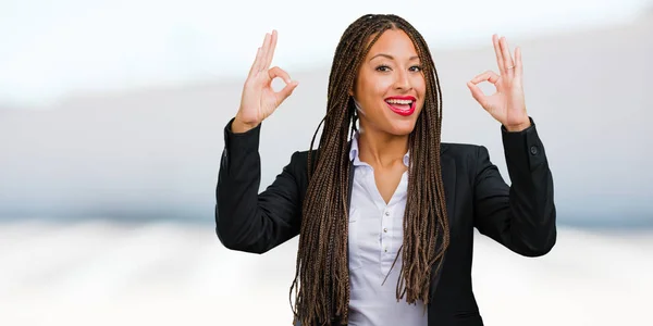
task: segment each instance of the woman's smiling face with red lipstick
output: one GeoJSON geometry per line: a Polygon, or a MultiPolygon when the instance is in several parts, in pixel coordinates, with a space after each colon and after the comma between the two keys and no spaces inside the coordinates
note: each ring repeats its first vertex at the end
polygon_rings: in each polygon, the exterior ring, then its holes
{"type": "Polygon", "coordinates": [[[410,134],[424,93],[426,80],[412,41],[401,29],[384,32],[362,61],[354,86],[361,131],[410,134]]]}

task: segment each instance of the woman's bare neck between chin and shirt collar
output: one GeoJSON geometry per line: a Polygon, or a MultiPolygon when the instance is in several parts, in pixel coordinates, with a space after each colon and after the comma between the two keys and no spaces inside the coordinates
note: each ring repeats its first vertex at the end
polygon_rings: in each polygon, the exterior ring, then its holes
{"type": "Polygon", "coordinates": [[[404,164],[408,152],[408,135],[396,136],[372,129],[360,130],[358,136],[360,161],[374,167],[386,168],[404,164]]]}

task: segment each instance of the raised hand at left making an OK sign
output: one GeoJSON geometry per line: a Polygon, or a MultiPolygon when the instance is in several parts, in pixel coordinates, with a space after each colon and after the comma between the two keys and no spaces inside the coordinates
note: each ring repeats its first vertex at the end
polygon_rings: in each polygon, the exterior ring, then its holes
{"type": "Polygon", "coordinates": [[[266,34],[263,46],[258,49],[256,60],[251,65],[247,80],[245,80],[241,108],[232,124],[234,133],[244,133],[258,126],[291,96],[298,85],[282,68],[278,66],[270,68],[275,47],[276,30],[272,30],[272,34],[266,34]],[[272,79],[276,77],[282,78],[286,84],[278,92],[272,89],[272,79]]]}

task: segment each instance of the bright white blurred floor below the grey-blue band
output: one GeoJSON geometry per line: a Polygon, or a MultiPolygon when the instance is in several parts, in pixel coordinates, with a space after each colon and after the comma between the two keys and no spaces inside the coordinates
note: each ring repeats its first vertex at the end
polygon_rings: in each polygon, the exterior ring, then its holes
{"type": "MultiPolygon", "coordinates": [[[[296,246],[233,252],[210,225],[5,223],[0,325],[289,325],[296,246]]],[[[486,325],[643,325],[653,230],[560,228],[539,259],[478,235],[473,268],[486,325]]]]}

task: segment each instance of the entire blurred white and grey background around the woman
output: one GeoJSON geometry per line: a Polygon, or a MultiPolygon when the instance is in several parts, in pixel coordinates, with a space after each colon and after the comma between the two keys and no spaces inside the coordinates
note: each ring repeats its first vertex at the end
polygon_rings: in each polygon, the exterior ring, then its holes
{"type": "Polygon", "coordinates": [[[0,325],[289,325],[297,239],[257,255],[215,237],[222,133],[278,29],[272,64],[300,84],[263,123],[267,187],[309,147],[335,46],[366,13],[422,33],[443,141],[484,145],[507,183],[466,82],[496,71],[492,34],[522,49],[558,241],[527,259],[477,234],[485,324],[650,323],[650,0],[2,0],[0,325]]]}

